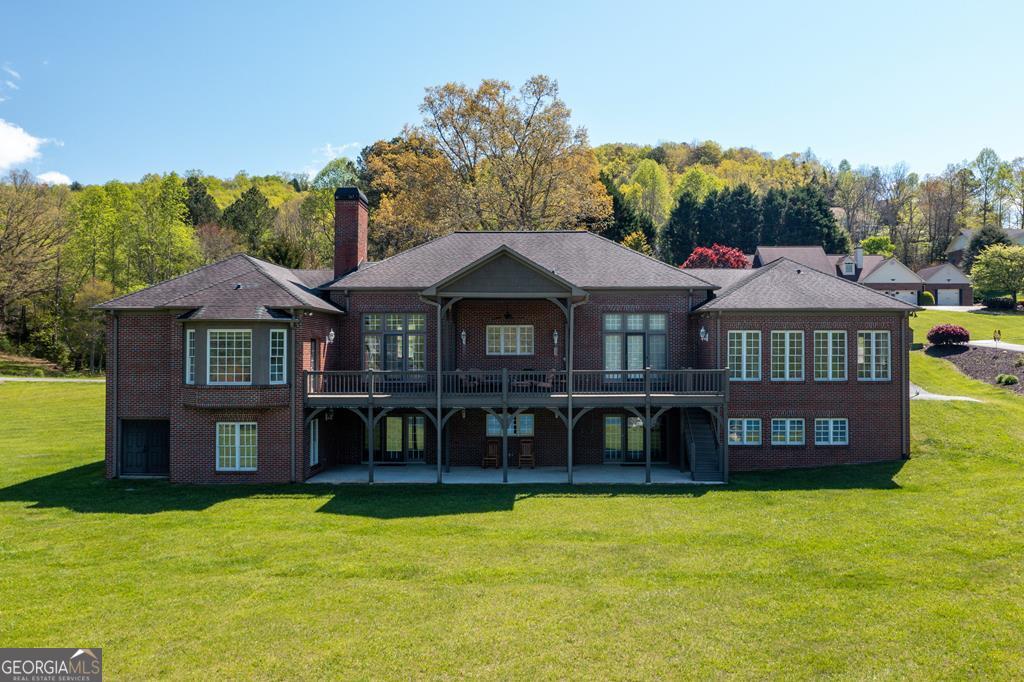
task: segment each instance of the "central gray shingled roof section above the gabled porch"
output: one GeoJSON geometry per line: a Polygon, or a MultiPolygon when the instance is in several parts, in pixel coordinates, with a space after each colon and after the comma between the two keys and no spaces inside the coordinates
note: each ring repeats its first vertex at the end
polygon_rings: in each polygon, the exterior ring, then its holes
{"type": "Polygon", "coordinates": [[[426,289],[507,246],[582,289],[713,289],[678,267],[587,231],[454,232],[338,280],[330,289],[426,289]]]}

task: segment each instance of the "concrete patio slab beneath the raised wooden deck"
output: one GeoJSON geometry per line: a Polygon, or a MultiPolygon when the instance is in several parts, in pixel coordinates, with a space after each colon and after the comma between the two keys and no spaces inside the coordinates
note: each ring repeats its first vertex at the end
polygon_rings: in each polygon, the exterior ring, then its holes
{"type": "MultiPolygon", "coordinates": [[[[307,483],[342,484],[367,483],[369,467],[367,465],[348,465],[328,469],[308,479],[307,483]]],[[[596,466],[580,466],[572,470],[573,483],[602,485],[642,485],[644,483],[644,468],[642,466],[622,466],[606,464],[596,466]]],[[[435,483],[437,470],[429,465],[411,464],[407,466],[378,465],[374,467],[374,483],[435,483]]],[[[443,473],[443,482],[451,484],[501,484],[501,469],[481,469],[480,467],[453,467],[443,473]]],[[[509,468],[510,484],[524,485],[536,483],[564,484],[567,482],[565,469],[561,467],[538,467],[537,469],[509,468]]],[[[689,472],[679,471],[667,464],[651,466],[651,482],[656,484],[703,484],[695,483],[689,472]]]]}

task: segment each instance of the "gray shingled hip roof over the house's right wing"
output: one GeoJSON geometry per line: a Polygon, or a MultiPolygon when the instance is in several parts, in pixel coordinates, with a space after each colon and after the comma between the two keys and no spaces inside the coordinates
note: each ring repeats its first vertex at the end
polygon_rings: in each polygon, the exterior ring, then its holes
{"type": "Polygon", "coordinates": [[[919,310],[862,285],[788,258],[717,292],[700,310],[919,310]]]}

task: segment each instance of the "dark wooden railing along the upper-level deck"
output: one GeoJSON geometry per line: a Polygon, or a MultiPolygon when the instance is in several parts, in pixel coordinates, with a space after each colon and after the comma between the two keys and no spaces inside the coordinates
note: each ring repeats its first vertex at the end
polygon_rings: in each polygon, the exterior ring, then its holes
{"type": "MultiPolygon", "coordinates": [[[[568,390],[568,373],[537,370],[456,370],[441,373],[446,396],[558,396],[568,390]]],[[[724,370],[575,370],[577,395],[669,394],[721,395],[727,381],[724,370]]],[[[435,394],[432,372],[361,370],[307,372],[306,396],[424,396],[435,394]]]]}

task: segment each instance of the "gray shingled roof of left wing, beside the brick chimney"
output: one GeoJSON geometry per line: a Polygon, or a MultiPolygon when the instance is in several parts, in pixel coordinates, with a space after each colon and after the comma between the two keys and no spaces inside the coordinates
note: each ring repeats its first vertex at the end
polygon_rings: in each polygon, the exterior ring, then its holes
{"type": "Polygon", "coordinates": [[[191,319],[275,319],[285,308],[339,312],[310,284],[330,279],[327,270],[290,270],[239,254],[96,307],[190,309],[191,319]]]}

